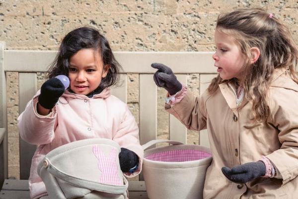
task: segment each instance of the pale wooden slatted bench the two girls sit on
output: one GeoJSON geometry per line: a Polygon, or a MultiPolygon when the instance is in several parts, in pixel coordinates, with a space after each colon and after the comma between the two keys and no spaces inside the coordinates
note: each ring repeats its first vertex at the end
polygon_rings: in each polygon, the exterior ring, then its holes
{"type": "MultiPolygon", "coordinates": [[[[54,60],[56,51],[4,50],[5,43],[0,42],[0,199],[29,199],[28,177],[31,158],[36,146],[19,140],[20,180],[8,178],[7,153],[7,106],[6,72],[17,72],[19,77],[19,113],[36,93],[37,72],[45,72],[54,60]],[[2,186],[3,184],[3,186],[2,186]]],[[[170,66],[177,78],[187,84],[187,78],[199,74],[199,93],[208,86],[207,82],[215,77],[212,52],[115,52],[116,59],[124,71],[121,74],[123,84],[113,88],[113,95],[127,102],[128,74],[139,76],[139,127],[141,144],[157,138],[157,87],[153,82],[152,62],[170,66]]],[[[205,130],[204,130],[205,131],[205,130]]],[[[201,131],[202,132],[202,131],[201,131]]],[[[198,135],[200,145],[208,146],[207,133],[198,135]]],[[[172,115],[169,115],[169,139],[187,143],[187,129],[172,115]]],[[[147,199],[144,181],[129,181],[130,199],[147,199]]]]}

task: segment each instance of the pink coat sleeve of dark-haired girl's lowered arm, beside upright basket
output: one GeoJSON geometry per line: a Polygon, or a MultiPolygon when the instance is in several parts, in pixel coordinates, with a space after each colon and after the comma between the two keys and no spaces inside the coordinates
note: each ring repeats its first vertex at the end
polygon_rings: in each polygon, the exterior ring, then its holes
{"type": "Polygon", "coordinates": [[[138,124],[127,105],[123,120],[121,121],[113,140],[116,141],[120,147],[127,148],[139,156],[139,168],[136,169],[134,173],[125,173],[124,175],[129,178],[139,175],[142,170],[144,150],[140,144],[138,124]]]}

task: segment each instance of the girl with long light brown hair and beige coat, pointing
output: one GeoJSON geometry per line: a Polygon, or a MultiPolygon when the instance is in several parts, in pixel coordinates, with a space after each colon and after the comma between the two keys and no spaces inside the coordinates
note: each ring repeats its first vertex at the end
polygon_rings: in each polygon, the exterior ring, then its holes
{"type": "Polygon", "coordinates": [[[166,110],[189,129],[208,129],[204,199],[294,199],[298,48],[289,29],[262,9],[237,9],[218,17],[215,45],[219,75],[200,97],[169,67],[151,65],[168,91],[166,110]]]}

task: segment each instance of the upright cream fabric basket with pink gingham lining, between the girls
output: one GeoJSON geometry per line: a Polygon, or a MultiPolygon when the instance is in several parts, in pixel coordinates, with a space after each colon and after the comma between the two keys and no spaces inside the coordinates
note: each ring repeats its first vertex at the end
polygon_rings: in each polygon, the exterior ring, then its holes
{"type": "Polygon", "coordinates": [[[143,149],[143,175],[149,199],[203,199],[206,170],[212,161],[209,148],[152,140],[143,149]],[[161,142],[172,145],[148,149],[161,142]]]}

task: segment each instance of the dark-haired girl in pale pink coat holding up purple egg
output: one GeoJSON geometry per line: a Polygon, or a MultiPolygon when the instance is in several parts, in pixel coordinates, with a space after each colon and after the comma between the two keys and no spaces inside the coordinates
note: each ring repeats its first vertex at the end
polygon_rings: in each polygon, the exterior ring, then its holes
{"type": "Polygon", "coordinates": [[[96,29],[81,27],[68,33],[48,71],[48,80],[18,118],[20,136],[39,145],[31,163],[32,199],[47,195],[36,168],[51,150],[76,140],[107,138],[121,147],[119,162],[127,177],[141,171],[143,149],[139,128],[127,104],[109,87],[117,83],[120,64],[108,41],[96,29]],[[65,75],[70,87],[55,78],[65,75]]]}

